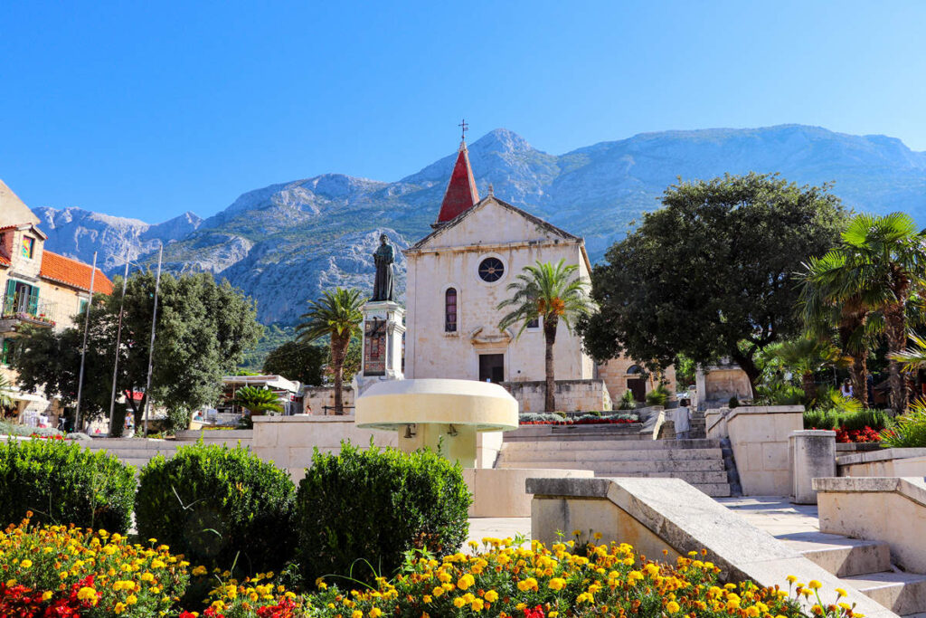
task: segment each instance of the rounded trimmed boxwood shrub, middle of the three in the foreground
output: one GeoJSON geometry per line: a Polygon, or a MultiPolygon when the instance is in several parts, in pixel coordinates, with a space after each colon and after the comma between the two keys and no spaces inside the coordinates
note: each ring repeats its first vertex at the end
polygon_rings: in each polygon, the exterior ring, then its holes
{"type": "Polygon", "coordinates": [[[197,443],[142,469],[135,525],[193,564],[246,573],[292,557],[295,486],[248,448],[197,443]]]}

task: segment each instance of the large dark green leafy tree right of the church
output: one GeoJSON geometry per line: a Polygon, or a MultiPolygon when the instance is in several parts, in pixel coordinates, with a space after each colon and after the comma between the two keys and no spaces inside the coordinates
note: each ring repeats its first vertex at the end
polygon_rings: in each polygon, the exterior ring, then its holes
{"type": "Polygon", "coordinates": [[[595,267],[601,310],[581,326],[585,348],[600,361],[649,359],[653,370],[678,354],[729,357],[755,395],[757,351],[802,330],[793,273],[835,245],[845,209],[827,186],[755,173],[680,181],[662,206],[595,267]]]}

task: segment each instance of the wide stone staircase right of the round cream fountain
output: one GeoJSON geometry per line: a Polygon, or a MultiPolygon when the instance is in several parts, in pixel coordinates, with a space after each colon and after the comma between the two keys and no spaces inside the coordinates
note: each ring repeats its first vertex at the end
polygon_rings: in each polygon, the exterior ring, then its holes
{"type": "Polygon", "coordinates": [[[639,425],[522,427],[505,435],[495,467],[680,478],[708,496],[731,495],[720,440],[653,440],[639,425]]]}

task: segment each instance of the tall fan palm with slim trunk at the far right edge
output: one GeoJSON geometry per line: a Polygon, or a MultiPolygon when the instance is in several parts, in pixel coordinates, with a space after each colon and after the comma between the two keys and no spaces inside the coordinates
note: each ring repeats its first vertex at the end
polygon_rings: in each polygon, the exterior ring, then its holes
{"type": "Polygon", "coordinates": [[[884,316],[891,372],[891,407],[907,409],[900,362],[893,355],[907,346],[907,303],[926,284],[926,233],[903,212],[878,217],[861,214],[849,221],[840,250],[850,276],[868,291],[867,302],[884,316]]]}

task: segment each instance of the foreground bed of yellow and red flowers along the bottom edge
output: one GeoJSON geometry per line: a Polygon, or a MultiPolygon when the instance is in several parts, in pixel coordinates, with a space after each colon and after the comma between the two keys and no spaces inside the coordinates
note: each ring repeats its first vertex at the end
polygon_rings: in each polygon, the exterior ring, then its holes
{"type": "MultiPolygon", "coordinates": [[[[788,591],[749,582],[723,585],[720,569],[694,552],[669,565],[644,560],[626,544],[596,547],[569,541],[547,549],[539,542],[525,548],[511,539],[486,538],[482,551],[471,556],[456,553],[438,561],[412,551],[393,579],[377,577],[371,586],[352,577],[332,577],[330,586],[319,579],[315,592],[297,595],[275,582],[272,573],[239,583],[228,579],[227,571],[191,569],[166,546],[154,539],[149,543],[148,548],[130,544],[102,530],[31,527],[28,520],[10,526],[0,533],[0,615],[797,618],[805,615],[796,601],[800,595],[816,600],[816,615],[853,615],[850,606],[839,602],[839,590],[831,604],[824,604],[819,582],[805,586],[789,577],[795,587],[788,591]],[[202,589],[212,590],[201,606],[183,610],[180,599],[191,580],[191,589],[211,581],[202,589]],[[335,585],[340,582],[358,586],[335,585]]],[[[201,597],[192,599],[196,604],[201,597]]]]}

